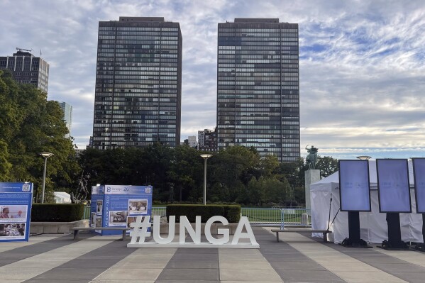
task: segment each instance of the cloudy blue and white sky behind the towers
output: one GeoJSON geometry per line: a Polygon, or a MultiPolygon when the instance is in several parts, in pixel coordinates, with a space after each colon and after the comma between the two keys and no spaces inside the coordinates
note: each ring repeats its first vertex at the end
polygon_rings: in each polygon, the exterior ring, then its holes
{"type": "Polygon", "coordinates": [[[425,157],[423,0],[0,0],[0,11],[0,55],[41,50],[48,99],[72,105],[79,148],[92,135],[99,21],[180,23],[184,139],[216,125],[217,23],[255,17],[299,23],[302,148],[336,158],[425,157]]]}

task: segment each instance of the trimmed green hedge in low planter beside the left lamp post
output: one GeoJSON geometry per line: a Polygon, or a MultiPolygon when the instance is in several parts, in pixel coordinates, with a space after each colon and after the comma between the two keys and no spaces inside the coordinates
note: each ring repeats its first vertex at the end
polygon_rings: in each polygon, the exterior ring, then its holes
{"type": "Polygon", "coordinates": [[[33,222],[70,222],[81,220],[84,204],[33,204],[33,222]]]}

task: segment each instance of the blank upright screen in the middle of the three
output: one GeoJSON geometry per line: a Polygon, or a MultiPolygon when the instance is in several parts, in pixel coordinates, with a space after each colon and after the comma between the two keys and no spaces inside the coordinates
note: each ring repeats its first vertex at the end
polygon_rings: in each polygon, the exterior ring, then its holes
{"type": "Polygon", "coordinates": [[[411,213],[409,167],[405,159],[377,159],[380,212],[411,213]]]}

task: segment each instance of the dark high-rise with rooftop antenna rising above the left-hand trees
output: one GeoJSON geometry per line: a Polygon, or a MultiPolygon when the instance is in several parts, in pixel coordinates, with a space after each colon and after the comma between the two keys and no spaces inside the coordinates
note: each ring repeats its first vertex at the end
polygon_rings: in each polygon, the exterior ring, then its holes
{"type": "Polygon", "coordinates": [[[0,70],[10,70],[13,79],[22,84],[33,84],[38,89],[48,92],[49,64],[41,57],[35,57],[31,50],[16,48],[12,56],[0,57],[0,70]]]}

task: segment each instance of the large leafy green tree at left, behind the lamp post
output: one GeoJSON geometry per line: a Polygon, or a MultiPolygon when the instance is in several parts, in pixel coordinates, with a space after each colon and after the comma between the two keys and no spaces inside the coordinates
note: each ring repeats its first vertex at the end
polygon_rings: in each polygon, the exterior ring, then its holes
{"type": "MultiPolygon", "coordinates": [[[[63,113],[57,101],[31,84],[19,84],[8,70],[0,70],[0,180],[33,182],[35,196],[43,181],[47,162],[46,192],[72,189],[79,165],[63,113]]],[[[46,199],[51,198],[49,194],[46,199]]]]}

